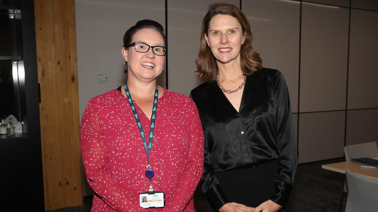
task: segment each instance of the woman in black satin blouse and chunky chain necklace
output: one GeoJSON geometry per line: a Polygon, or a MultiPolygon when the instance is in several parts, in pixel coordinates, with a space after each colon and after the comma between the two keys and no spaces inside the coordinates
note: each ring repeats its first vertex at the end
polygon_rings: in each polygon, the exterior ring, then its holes
{"type": "Polygon", "coordinates": [[[196,60],[205,83],[191,92],[205,133],[208,211],[288,211],[297,166],[289,92],[252,43],[239,8],[209,7],[196,60]]]}

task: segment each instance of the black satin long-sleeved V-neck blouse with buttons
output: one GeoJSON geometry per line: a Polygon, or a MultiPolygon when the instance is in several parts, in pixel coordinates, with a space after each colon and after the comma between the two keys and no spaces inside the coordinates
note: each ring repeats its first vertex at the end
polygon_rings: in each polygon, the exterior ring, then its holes
{"type": "Polygon", "coordinates": [[[282,73],[263,68],[246,78],[239,112],[214,81],[193,89],[204,135],[204,170],[200,187],[213,209],[228,200],[214,172],[244,169],[277,160],[275,193],[287,204],[297,167],[293,115],[282,73]]]}

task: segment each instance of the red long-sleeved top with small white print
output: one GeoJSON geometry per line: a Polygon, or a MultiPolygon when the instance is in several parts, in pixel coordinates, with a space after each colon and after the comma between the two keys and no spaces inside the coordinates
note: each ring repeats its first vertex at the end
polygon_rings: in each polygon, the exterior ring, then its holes
{"type": "MultiPolygon", "coordinates": [[[[150,120],[134,104],[148,135],[150,120]]],[[[95,191],[92,212],[194,211],[193,194],[203,172],[203,130],[189,97],[164,89],[158,99],[149,158],[154,190],[166,195],[164,208],[139,206],[139,193],[149,186],[147,156],[129,102],[117,89],[89,100],[80,144],[85,174],[95,191]]]]}

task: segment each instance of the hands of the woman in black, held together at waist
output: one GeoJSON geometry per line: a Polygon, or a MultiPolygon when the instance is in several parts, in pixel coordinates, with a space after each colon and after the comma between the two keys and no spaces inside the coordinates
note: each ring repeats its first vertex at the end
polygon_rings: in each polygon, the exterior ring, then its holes
{"type": "Polygon", "coordinates": [[[248,207],[239,203],[227,203],[223,205],[220,212],[277,212],[282,208],[271,200],[261,203],[257,207],[248,207]]]}

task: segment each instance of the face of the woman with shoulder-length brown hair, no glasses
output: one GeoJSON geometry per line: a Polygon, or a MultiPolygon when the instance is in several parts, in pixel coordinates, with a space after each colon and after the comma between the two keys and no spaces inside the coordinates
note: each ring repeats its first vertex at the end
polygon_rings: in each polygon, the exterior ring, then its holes
{"type": "Polygon", "coordinates": [[[228,63],[239,57],[245,33],[235,17],[215,15],[209,22],[209,31],[205,39],[215,59],[221,63],[228,63]]]}

